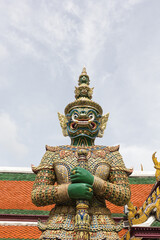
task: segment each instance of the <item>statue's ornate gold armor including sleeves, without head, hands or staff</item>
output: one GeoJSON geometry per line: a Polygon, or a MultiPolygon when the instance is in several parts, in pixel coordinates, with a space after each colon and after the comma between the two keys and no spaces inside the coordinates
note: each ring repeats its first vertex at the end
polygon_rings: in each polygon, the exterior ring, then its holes
{"type": "MultiPolygon", "coordinates": [[[[75,201],[69,199],[67,185],[70,184],[71,169],[77,166],[78,147],[46,147],[41,164],[33,167],[37,174],[32,201],[37,206],[56,203],[46,223],[38,223],[43,231],[40,239],[74,239],[75,201]],[[53,186],[57,182],[57,185],[53,186]]],[[[117,232],[123,224],[115,224],[105,199],[124,205],[130,199],[127,173],[119,146],[91,146],[88,151],[88,169],[95,176],[94,197],[90,201],[90,239],[119,239],[117,232]]]]}

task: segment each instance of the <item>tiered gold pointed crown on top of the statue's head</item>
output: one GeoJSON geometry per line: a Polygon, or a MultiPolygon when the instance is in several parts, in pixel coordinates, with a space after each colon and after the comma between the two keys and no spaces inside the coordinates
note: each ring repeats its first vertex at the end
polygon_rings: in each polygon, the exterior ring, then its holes
{"type": "Polygon", "coordinates": [[[90,79],[87,75],[86,68],[84,67],[78,80],[78,87],[75,87],[75,98],[74,102],[69,103],[64,112],[67,115],[73,108],[77,107],[91,107],[102,115],[103,110],[101,106],[92,101],[93,88],[89,87],[90,79]]]}

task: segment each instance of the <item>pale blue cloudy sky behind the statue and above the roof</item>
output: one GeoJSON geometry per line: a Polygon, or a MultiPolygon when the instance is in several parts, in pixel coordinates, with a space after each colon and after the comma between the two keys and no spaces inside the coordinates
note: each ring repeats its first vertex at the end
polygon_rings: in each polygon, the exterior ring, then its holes
{"type": "Polygon", "coordinates": [[[0,166],[38,165],[70,144],[57,112],[83,66],[110,117],[96,144],[120,144],[127,167],[160,160],[160,1],[0,0],[0,166]]]}

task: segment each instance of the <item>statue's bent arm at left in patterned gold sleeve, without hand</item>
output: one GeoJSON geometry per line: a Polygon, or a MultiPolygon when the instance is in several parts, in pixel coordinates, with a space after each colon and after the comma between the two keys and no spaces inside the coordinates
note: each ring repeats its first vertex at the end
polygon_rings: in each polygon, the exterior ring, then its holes
{"type": "Polygon", "coordinates": [[[36,179],[31,198],[36,206],[61,203],[69,199],[68,184],[54,185],[56,181],[55,172],[48,164],[48,159],[49,153],[46,153],[42,158],[40,167],[35,168],[36,179]]]}

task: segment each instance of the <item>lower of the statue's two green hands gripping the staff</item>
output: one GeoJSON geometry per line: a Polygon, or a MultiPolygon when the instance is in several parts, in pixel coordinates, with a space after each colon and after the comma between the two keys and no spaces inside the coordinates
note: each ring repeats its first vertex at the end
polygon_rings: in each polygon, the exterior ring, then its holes
{"type": "Polygon", "coordinates": [[[91,200],[93,189],[86,183],[73,183],[68,186],[68,195],[71,199],[91,200]]]}

